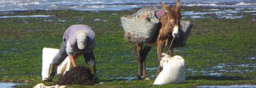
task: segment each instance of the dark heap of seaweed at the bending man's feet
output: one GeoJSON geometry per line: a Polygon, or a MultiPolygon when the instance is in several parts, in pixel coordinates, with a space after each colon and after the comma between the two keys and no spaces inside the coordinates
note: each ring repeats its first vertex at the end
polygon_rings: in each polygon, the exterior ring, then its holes
{"type": "Polygon", "coordinates": [[[92,75],[90,69],[84,66],[70,69],[56,82],[58,85],[93,85],[94,83],[99,83],[99,78],[92,75]]]}

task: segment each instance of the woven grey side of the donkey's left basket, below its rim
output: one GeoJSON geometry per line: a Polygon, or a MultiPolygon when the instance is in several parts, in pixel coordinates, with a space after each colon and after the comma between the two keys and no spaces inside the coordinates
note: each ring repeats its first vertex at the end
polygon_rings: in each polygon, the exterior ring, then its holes
{"type": "Polygon", "coordinates": [[[147,19],[131,19],[121,17],[121,23],[125,31],[125,39],[131,43],[147,43],[151,41],[159,23],[147,19]]]}

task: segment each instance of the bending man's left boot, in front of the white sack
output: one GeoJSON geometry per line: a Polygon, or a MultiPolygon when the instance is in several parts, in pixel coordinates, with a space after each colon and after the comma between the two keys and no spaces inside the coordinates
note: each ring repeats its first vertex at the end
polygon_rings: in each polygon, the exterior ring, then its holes
{"type": "Polygon", "coordinates": [[[58,65],[54,65],[54,64],[50,64],[50,67],[49,67],[49,77],[44,79],[44,81],[52,81],[52,79],[54,78],[54,75],[56,74],[56,71],[57,71],[57,68],[58,68],[58,65]]]}

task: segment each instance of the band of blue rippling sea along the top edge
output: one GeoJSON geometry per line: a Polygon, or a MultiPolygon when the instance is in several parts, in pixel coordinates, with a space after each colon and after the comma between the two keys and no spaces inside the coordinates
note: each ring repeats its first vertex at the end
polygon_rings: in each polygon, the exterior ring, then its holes
{"type": "MultiPolygon", "coordinates": [[[[1,11],[120,11],[174,5],[176,0],[0,0],[1,11]]],[[[181,0],[183,6],[256,8],[256,0],[181,0]]]]}

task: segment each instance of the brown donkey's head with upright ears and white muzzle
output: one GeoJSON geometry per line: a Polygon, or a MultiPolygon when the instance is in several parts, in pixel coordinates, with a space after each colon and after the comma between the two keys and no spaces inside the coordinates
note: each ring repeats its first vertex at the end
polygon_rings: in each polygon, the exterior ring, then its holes
{"type": "Polygon", "coordinates": [[[164,5],[163,3],[161,3],[161,6],[163,9],[165,9],[166,11],[166,17],[164,17],[164,29],[167,29],[168,31],[172,32],[172,36],[175,37],[179,37],[180,33],[179,33],[179,27],[180,27],[180,19],[182,18],[182,15],[180,13],[180,9],[181,9],[181,4],[180,4],[180,0],[177,0],[176,3],[176,7],[170,5],[170,7],[168,7],[167,5],[164,5]]]}

